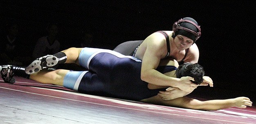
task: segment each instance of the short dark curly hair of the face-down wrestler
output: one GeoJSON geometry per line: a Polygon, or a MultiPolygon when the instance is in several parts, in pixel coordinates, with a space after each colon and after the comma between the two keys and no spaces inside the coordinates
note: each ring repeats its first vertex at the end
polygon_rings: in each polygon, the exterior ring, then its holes
{"type": "Polygon", "coordinates": [[[176,76],[177,78],[190,76],[193,77],[195,81],[192,81],[195,84],[201,84],[203,82],[203,76],[204,76],[204,68],[198,64],[192,64],[192,63],[184,63],[178,67],[176,70],[176,76]]]}

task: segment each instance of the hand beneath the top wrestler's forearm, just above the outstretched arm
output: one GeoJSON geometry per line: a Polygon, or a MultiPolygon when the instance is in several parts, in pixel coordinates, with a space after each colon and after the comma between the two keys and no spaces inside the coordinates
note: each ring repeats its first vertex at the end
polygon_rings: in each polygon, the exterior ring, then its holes
{"type": "Polygon", "coordinates": [[[173,100],[178,97],[184,96],[184,94],[180,91],[182,91],[182,90],[175,88],[175,87],[169,87],[166,89],[166,91],[159,91],[159,93],[157,95],[159,97],[161,97],[163,100],[173,100]]]}

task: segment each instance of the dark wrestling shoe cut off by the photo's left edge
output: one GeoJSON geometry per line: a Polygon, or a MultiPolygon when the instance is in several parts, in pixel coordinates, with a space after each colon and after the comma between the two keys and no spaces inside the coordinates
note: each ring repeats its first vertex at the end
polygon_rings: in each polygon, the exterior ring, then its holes
{"type": "Polygon", "coordinates": [[[15,78],[13,78],[14,71],[11,65],[0,66],[0,75],[6,83],[13,84],[15,82],[15,78]]]}

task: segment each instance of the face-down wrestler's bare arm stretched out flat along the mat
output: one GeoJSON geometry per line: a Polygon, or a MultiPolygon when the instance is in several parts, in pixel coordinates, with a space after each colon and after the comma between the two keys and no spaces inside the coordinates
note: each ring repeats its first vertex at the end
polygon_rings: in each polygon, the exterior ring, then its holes
{"type": "Polygon", "coordinates": [[[141,100],[141,102],[205,111],[226,109],[231,107],[246,108],[246,106],[252,106],[252,102],[247,97],[236,97],[233,99],[207,101],[200,101],[189,97],[180,97],[174,100],[166,101],[162,100],[159,96],[156,95],[154,97],[141,100]]]}

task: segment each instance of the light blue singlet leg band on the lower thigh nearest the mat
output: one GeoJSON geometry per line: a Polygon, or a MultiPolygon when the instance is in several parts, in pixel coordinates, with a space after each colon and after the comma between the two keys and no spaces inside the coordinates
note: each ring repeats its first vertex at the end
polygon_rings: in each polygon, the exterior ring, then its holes
{"type": "Polygon", "coordinates": [[[78,90],[78,86],[83,78],[83,75],[88,71],[69,71],[64,77],[63,86],[72,89],[78,90]]]}

